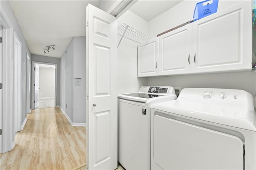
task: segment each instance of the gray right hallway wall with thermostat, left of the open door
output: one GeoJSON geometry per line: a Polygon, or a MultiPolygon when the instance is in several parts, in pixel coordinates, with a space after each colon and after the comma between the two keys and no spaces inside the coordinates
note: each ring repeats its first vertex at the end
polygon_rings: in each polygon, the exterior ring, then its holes
{"type": "Polygon", "coordinates": [[[60,60],[60,106],[73,123],[86,123],[86,37],[74,37],[60,60]],[[81,86],[74,78],[81,78],[81,86]]]}

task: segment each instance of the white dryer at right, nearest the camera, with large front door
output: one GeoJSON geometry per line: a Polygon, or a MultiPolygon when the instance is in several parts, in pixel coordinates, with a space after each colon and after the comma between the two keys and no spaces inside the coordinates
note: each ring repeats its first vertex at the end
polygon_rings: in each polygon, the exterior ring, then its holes
{"type": "Polygon", "coordinates": [[[256,169],[252,95],[234,89],[183,89],[152,106],[151,169],[256,169]]]}

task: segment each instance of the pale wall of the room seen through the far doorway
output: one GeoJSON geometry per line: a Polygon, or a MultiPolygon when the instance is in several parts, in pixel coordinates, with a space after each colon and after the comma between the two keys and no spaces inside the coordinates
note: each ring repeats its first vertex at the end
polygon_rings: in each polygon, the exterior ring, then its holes
{"type": "Polygon", "coordinates": [[[39,99],[54,97],[55,95],[55,69],[39,68],[39,99]]]}

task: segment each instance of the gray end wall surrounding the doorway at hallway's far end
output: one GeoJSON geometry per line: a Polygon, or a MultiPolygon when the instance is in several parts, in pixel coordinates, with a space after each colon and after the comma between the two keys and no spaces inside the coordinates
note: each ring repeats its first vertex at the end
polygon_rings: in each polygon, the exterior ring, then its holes
{"type": "MultiPolygon", "coordinates": [[[[31,54],[31,61],[57,64],[57,67],[56,67],[56,70],[57,70],[57,97],[56,97],[57,103],[56,103],[56,105],[57,106],[60,105],[60,58],[46,57],[46,56],[42,56],[42,55],[31,54]]],[[[31,69],[33,70],[33,66],[31,67],[31,69]]],[[[32,84],[33,84],[33,82],[31,81],[31,85],[32,84]]],[[[33,99],[33,96],[31,97],[31,101],[32,101],[32,99],[33,99]]]]}

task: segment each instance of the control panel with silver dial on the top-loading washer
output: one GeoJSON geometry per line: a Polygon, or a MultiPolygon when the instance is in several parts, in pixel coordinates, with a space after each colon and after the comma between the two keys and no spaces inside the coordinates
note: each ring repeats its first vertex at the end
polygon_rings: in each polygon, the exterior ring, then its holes
{"type": "Polygon", "coordinates": [[[158,93],[158,94],[171,94],[174,91],[171,86],[142,86],[140,87],[141,93],[158,93]]]}

